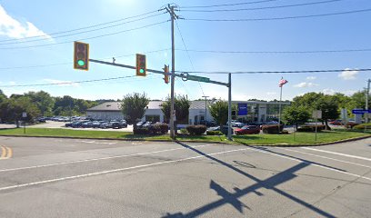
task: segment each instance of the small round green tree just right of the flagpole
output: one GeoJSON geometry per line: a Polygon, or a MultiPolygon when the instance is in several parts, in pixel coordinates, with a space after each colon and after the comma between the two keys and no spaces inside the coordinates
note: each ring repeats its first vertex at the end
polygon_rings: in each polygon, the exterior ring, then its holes
{"type": "Polygon", "coordinates": [[[304,106],[287,106],[284,110],[284,119],[290,124],[304,124],[310,118],[310,114],[304,106]]]}

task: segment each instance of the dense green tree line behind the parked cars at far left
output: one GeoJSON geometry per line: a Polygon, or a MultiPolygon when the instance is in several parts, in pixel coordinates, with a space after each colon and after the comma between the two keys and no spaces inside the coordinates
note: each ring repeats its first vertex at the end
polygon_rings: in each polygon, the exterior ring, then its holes
{"type": "Polygon", "coordinates": [[[22,113],[26,113],[26,122],[34,122],[39,116],[73,116],[85,114],[86,110],[105,100],[89,101],[76,99],[69,95],[54,97],[50,94],[28,92],[25,94],[12,94],[7,97],[0,90],[0,120],[1,122],[13,123],[22,119],[22,113]]]}

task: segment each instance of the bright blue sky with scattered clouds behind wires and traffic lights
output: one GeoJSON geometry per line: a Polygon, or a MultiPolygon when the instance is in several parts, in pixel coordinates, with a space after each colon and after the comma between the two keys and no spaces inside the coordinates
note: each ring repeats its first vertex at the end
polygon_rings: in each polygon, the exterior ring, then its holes
{"type": "MultiPolygon", "coordinates": [[[[92,59],[112,62],[115,57],[117,64],[135,65],[135,54],[146,54],[147,68],[162,70],[171,65],[171,22],[165,10],[158,10],[169,3],[181,18],[175,22],[175,71],[344,70],[232,74],[234,101],[279,99],[282,77],[288,81],[283,100],[309,92],[354,94],[371,77],[357,70],[371,68],[369,0],[2,0],[0,89],[8,96],[43,90],[89,100],[132,93],[165,100],[170,84],[162,74],[138,77],[132,69],[95,63],[88,71],[75,70],[73,42],[88,43],[92,59]],[[358,12],[328,15],[349,11],[358,12]],[[344,50],[363,51],[307,53],[344,50]],[[58,84],[115,77],[124,78],[58,84]]],[[[228,79],[227,74],[195,75],[228,79]]],[[[222,85],[175,80],[175,94],[191,100],[227,99],[227,91],[222,85]]]]}

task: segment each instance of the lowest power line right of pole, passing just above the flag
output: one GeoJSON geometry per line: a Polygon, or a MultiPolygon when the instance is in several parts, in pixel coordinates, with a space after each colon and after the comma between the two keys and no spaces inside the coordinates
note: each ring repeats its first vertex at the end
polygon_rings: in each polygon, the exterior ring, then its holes
{"type": "Polygon", "coordinates": [[[315,73],[338,73],[346,71],[366,72],[371,71],[371,68],[345,69],[345,70],[299,70],[299,71],[237,71],[237,72],[177,71],[177,72],[187,74],[315,74],[315,73]]]}

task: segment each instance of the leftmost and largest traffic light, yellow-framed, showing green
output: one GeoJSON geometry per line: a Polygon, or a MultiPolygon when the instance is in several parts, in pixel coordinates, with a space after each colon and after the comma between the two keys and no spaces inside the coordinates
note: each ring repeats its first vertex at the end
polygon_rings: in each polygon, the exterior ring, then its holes
{"type": "Polygon", "coordinates": [[[89,45],[75,42],[74,45],[74,68],[76,70],[89,70],[89,45]]]}

